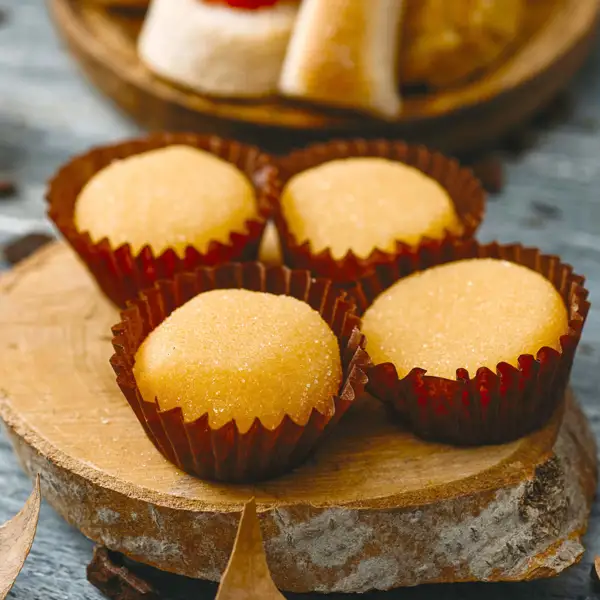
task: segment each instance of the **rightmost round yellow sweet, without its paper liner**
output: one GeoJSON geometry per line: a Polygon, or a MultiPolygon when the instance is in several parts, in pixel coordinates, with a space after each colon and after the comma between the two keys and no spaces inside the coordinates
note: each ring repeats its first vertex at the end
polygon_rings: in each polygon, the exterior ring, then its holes
{"type": "Polygon", "coordinates": [[[363,332],[373,362],[391,362],[399,377],[414,367],[428,375],[474,376],[521,354],[560,350],[568,331],[564,302],[542,275],[515,263],[470,259],[448,263],[383,292],[366,311],[363,332]]]}

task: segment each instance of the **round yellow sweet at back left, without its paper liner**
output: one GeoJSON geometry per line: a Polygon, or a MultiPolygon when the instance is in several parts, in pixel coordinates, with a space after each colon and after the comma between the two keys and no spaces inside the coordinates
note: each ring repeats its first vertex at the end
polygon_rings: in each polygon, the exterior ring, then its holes
{"type": "Polygon", "coordinates": [[[191,146],[169,146],[117,160],[96,173],[75,205],[75,224],[93,241],[129,243],[134,254],[187,246],[205,252],[229,242],[256,217],[252,184],[234,165],[191,146]]]}

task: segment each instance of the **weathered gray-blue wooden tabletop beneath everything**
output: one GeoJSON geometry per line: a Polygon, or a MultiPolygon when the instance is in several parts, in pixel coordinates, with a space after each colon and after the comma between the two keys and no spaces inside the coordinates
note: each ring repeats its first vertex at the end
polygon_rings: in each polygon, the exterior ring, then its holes
{"type": "MultiPolygon", "coordinates": [[[[0,0],[0,176],[19,182],[19,195],[0,203],[0,244],[28,231],[50,230],[45,182],[67,158],[89,146],[136,133],[80,78],[61,48],[43,0],[0,0]]],[[[573,386],[600,434],[600,43],[572,85],[568,121],[540,136],[509,165],[509,184],[492,199],[481,238],[520,240],[560,254],[588,277],[592,307],[573,372],[573,386]]],[[[0,522],[31,490],[0,433],[0,522]]],[[[600,598],[589,579],[600,554],[600,502],[592,512],[581,564],[550,581],[516,585],[438,586],[372,598],[515,600],[600,598]]],[[[11,594],[20,600],[98,599],[86,582],[92,544],[44,506],[38,535],[11,594]]],[[[1,560],[1,557],[0,557],[1,560]]],[[[210,593],[205,596],[211,597],[210,593]]]]}

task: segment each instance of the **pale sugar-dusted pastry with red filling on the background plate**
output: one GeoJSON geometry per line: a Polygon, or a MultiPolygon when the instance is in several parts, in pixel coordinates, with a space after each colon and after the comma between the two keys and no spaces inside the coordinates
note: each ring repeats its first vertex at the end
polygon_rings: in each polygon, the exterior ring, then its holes
{"type": "Polygon", "coordinates": [[[276,92],[294,0],[153,0],[139,38],[157,75],[214,96],[276,92]]]}

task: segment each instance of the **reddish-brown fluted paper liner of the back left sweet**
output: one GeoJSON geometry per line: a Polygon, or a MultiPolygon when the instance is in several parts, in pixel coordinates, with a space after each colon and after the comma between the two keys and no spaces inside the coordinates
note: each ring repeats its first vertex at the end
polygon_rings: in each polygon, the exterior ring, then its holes
{"type": "Polygon", "coordinates": [[[95,148],[67,163],[50,182],[46,199],[48,215],[94,276],[100,289],[120,307],[156,281],[197,266],[216,266],[233,260],[256,260],[260,239],[279,194],[277,168],[268,155],[254,146],[216,136],[160,133],[149,137],[95,148]],[[232,232],[229,241],[211,242],[206,252],[188,246],[181,257],[169,248],[155,256],[149,246],[134,254],[129,244],[113,247],[108,239],[94,242],[75,226],[74,210],[79,193],[101,169],[117,159],[149,150],[183,144],[208,151],[245,173],[257,193],[258,214],[245,223],[245,231],[232,232]]]}

